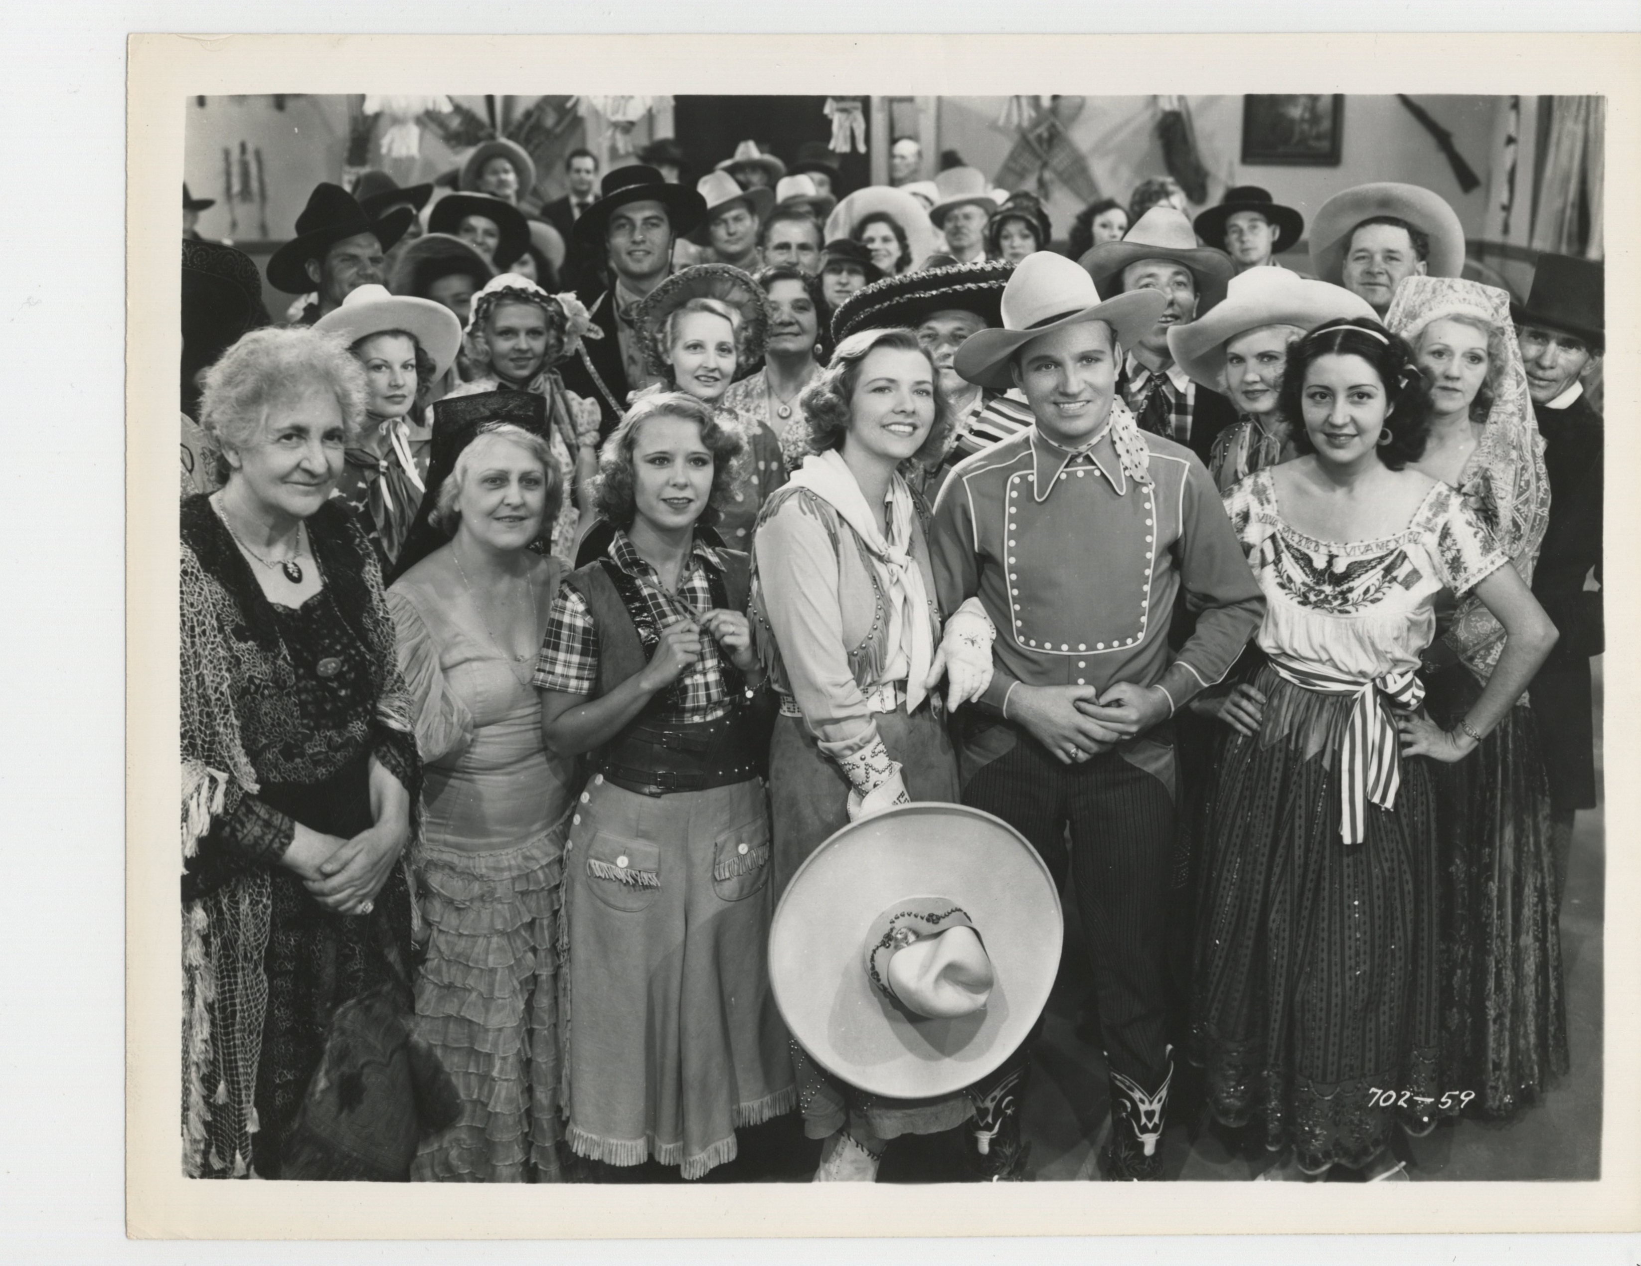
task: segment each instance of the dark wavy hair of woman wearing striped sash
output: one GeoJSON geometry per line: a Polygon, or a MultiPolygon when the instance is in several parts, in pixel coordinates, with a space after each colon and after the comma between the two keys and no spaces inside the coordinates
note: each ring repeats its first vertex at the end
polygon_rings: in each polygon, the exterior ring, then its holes
{"type": "Polygon", "coordinates": [[[1288,346],[1288,367],[1282,377],[1278,408],[1290,420],[1293,448],[1316,451],[1305,426],[1305,376],[1323,356],[1357,356],[1367,361],[1385,387],[1385,430],[1390,439],[1378,446],[1378,459],[1392,471],[1424,454],[1431,431],[1431,389],[1413,362],[1413,349],[1378,321],[1367,318],[1319,325],[1288,346]]]}

